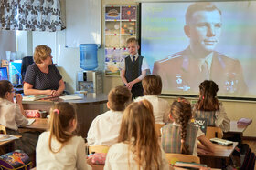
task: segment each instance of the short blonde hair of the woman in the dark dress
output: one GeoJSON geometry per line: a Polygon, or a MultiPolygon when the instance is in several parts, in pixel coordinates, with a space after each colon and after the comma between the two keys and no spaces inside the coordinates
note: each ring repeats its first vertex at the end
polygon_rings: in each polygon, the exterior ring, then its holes
{"type": "Polygon", "coordinates": [[[42,61],[46,60],[48,56],[51,55],[51,49],[48,45],[38,45],[35,48],[34,52],[34,62],[36,64],[42,63],[42,61]]]}

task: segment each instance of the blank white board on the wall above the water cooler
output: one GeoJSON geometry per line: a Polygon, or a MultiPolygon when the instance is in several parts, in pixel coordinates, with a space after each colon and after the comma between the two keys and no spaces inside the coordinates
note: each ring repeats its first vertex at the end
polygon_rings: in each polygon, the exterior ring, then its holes
{"type": "Polygon", "coordinates": [[[101,0],[66,0],[66,47],[101,44],[101,0]]]}

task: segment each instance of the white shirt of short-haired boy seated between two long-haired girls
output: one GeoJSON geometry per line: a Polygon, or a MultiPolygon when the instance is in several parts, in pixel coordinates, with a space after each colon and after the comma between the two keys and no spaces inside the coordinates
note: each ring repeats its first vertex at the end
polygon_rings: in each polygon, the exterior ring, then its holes
{"type": "Polygon", "coordinates": [[[123,112],[109,110],[98,115],[87,134],[88,145],[113,145],[117,143],[123,112]]]}

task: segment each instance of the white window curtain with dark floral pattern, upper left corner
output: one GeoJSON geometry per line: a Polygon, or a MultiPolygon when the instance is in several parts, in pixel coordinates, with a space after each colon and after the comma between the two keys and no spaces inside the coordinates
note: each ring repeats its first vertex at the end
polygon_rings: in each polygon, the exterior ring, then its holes
{"type": "Polygon", "coordinates": [[[65,26],[60,18],[59,0],[0,0],[0,29],[58,31],[65,26]]]}

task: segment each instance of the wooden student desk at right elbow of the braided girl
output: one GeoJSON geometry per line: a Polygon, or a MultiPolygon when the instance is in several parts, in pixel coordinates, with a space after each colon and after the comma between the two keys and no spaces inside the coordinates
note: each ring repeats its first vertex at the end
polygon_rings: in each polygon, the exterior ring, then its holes
{"type": "Polygon", "coordinates": [[[200,163],[206,164],[208,167],[223,168],[223,165],[228,165],[229,157],[233,153],[235,147],[238,145],[238,142],[233,142],[233,145],[230,146],[214,145],[216,151],[215,153],[206,155],[198,154],[200,157],[200,163]]]}

